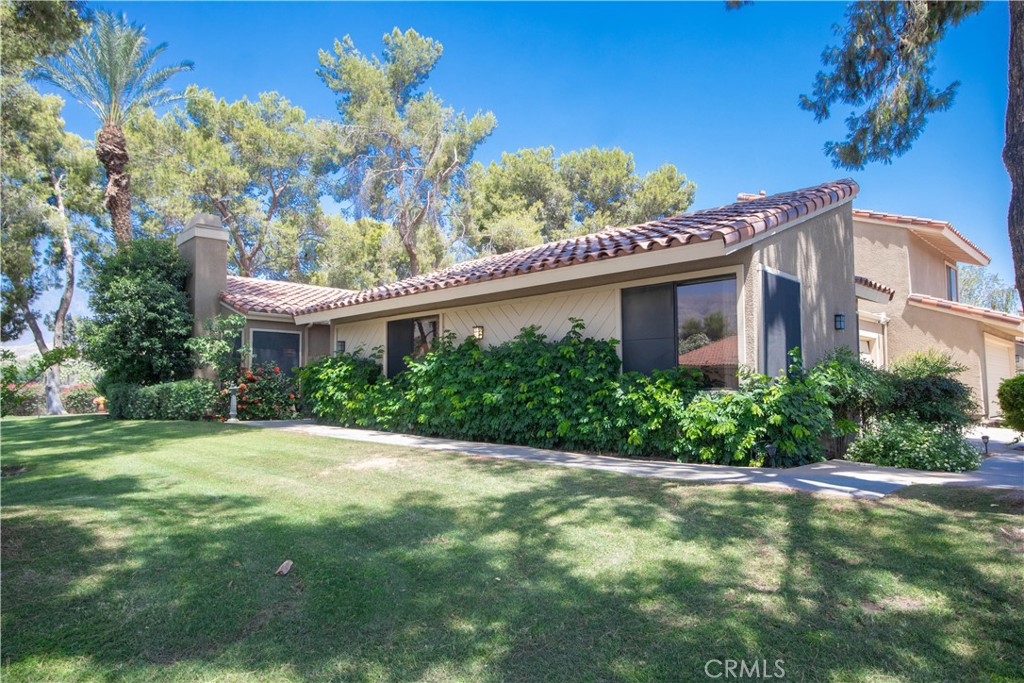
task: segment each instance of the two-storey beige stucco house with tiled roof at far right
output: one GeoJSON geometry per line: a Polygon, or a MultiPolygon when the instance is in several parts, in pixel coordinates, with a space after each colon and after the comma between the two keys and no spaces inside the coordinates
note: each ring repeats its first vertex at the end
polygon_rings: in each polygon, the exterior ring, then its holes
{"type": "Polygon", "coordinates": [[[886,367],[915,350],[937,348],[967,367],[962,376],[985,418],[999,416],[995,392],[1017,371],[1024,317],[959,301],[962,263],[989,257],[946,221],[853,210],[859,348],[886,367]],[[880,296],[870,296],[867,284],[880,296]]]}

